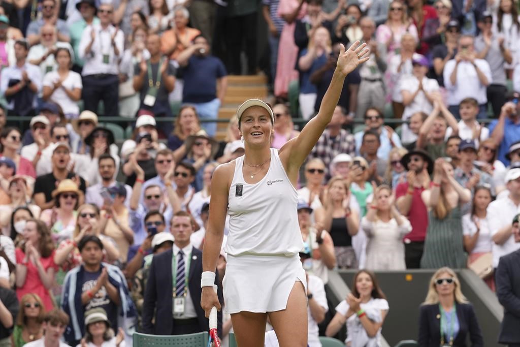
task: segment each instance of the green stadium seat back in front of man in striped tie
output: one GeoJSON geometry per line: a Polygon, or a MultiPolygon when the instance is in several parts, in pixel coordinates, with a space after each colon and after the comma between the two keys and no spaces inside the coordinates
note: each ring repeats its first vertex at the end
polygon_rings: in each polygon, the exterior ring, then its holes
{"type": "Polygon", "coordinates": [[[207,332],[186,335],[148,335],[135,332],[134,347],[205,347],[209,340],[207,332]]]}

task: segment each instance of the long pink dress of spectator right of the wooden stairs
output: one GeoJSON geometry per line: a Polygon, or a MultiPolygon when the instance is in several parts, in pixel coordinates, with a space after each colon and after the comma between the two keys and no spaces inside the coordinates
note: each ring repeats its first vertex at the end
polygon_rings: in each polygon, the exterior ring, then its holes
{"type": "MultiPolygon", "coordinates": [[[[278,5],[278,16],[289,15],[294,12],[300,2],[298,0],[280,0],[278,5]]],[[[297,19],[303,18],[307,10],[307,4],[303,4],[297,19]]],[[[298,79],[296,71],[296,58],[298,57],[298,46],[294,43],[294,21],[283,25],[278,44],[278,61],[275,78],[275,95],[287,96],[289,83],[298,79]]]]}

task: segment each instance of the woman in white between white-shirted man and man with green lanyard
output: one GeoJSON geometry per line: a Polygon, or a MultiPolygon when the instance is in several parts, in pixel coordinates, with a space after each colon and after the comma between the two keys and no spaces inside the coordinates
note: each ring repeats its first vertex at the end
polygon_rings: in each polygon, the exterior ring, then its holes
{"type": "Polygon", "coordinates": [[[150,58],[146,49],[147,37],[144,25],[136,27],[119,63],[119,112],[122,117],[134,118],[141,104],[140,94],[134,89],[134,72],[136,64],[150,58]]]}

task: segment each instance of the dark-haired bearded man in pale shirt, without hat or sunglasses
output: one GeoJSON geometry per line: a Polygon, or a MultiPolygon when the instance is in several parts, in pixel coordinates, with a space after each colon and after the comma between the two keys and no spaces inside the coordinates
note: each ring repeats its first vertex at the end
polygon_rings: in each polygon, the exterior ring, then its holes
{"type": "MultiPolygon", "coordinates": [[[[101,208],[103,207],[103,204],[105,204],[105,200],[103,200],[103,197],[101,196],[101,190],[103,190],[103,188],[111,188],[118,184],[118,182],[114,179],[115,160],[108,153],[99,156],[98,168],[99,175],[101,176],[101,182],[87,188],[85,202],[95,204],[97,207],[101,208]]],[[[125,188],[125,206],[128,207],[130,196],[132,195],[132,187],[125,184],[125,188]]]]}

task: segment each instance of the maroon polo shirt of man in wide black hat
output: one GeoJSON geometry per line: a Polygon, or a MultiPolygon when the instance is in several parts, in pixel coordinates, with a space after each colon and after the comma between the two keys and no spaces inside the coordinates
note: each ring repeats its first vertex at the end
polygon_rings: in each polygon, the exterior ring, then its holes
{"type": "MultiPolygon", "coordinates": [[[[405,196],[408,190],[408,182],[399,183],[395,190],[395,198],[405,196]]],[[[412,242],[424,242],[426,238],[426,229],[428,228],[428,210],[426,209],[426,205],[422,201],[421,193],[424,191],[424,188],[414,188],[412,195],[412,204],[410,206],[410,211],[406,216],[412,225],[412,231],[405,235],[404,241],[405,243],[409,241],[412,242]]]]}

